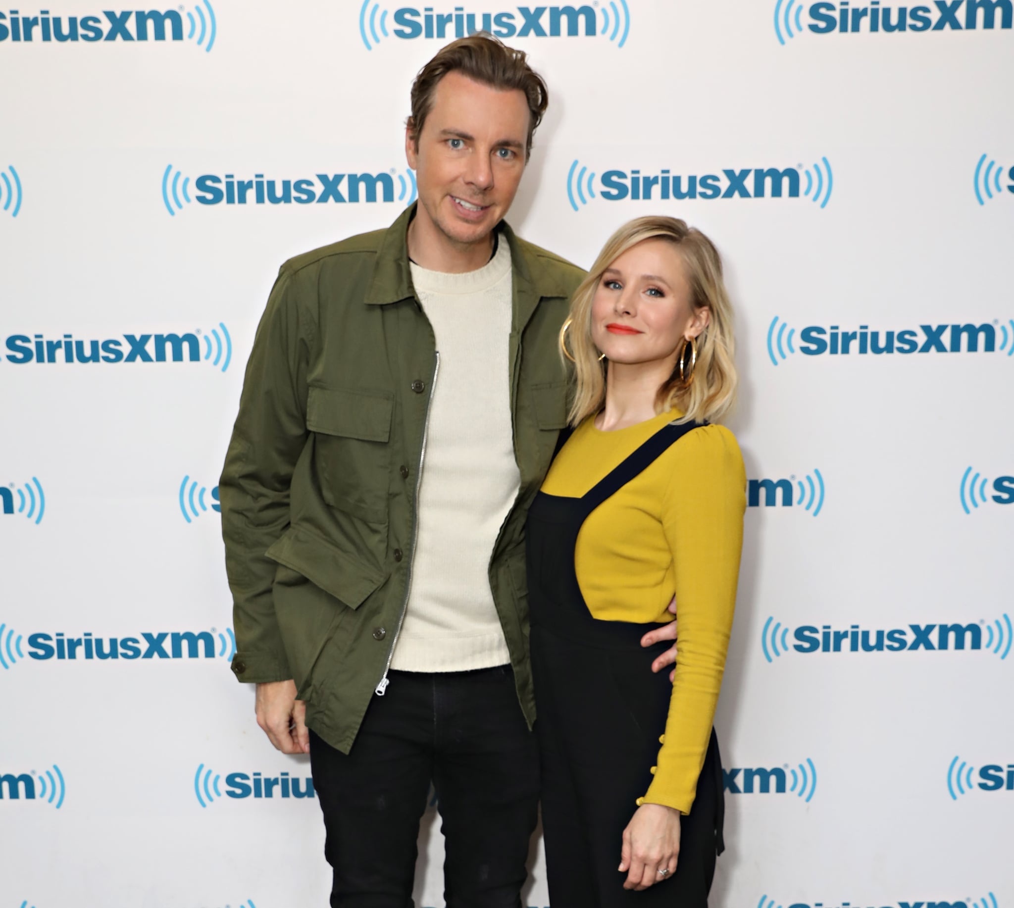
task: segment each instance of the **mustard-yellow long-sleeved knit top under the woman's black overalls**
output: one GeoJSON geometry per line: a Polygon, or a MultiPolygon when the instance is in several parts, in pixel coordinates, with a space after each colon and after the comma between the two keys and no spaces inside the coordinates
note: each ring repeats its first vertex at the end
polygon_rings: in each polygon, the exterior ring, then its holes
{"type": "MultiPolygon", "coordinates": [[[[677,419],[676,411],[601,432],[589,417],[557,455],[542,491],[580,498],[677,419]]],[[[678,655],[672,701],[644,796],[689,814],[704,765],[732,629],[746,472],[732,433],[693,430],[589,515],[574,565],[591,614],[667,621],[673,594],[678,655]]],[[[650,662],[645,658],[645,671],[650,662]]]]}

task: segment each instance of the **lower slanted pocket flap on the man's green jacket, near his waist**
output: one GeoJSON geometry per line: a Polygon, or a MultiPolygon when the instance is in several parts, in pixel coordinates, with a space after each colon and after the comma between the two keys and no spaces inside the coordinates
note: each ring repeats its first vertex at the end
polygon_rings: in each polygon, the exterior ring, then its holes
{"type": "Polygon", "coordinates": [[[359,608],[386,577],[303,527],[290,526],[265,554],[349,608],[359,608]]]}

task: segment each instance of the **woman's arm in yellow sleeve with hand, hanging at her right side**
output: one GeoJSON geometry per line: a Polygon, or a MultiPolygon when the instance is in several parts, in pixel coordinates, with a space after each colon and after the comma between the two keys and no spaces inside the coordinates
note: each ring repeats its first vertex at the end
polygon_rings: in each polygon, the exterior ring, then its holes
{"type": "MultiPolygon", "coordinates": [[[[694,804],[722,686],[743,540],[746,474],[732,433],[717,426],[695,430],[672,454],[662,524],[675,568],[679,659],[655,777],[624,835],[631,869],[639,840],[649,847],[649,838],[671,839],[673,821],[678,851],[678,814],[694,804]]],[[[645,873],[628,886],[642,889],[657,882],[653,876],[645,873]]]]}

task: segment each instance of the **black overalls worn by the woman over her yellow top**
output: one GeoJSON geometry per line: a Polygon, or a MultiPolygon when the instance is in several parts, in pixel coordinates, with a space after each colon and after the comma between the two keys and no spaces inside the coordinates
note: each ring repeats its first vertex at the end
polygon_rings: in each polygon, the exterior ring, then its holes
{"type": "Polygon", "coordinates": [[[651,784],[672,695],[669,672],[653,674],[651,663],[670,645],[640,645],[663,624],[593,618],[574,568],[588,515],[695,428],[665,426],[583,498],[540,491],[528,512],[535,731],[553,908],[704,908],[708,902],[715,856],[723,849],[714,731],[693,809],[681,818],[675,874],[643,892],[623,888],[627,874],[617,869],[623,831],[651,784]]]}

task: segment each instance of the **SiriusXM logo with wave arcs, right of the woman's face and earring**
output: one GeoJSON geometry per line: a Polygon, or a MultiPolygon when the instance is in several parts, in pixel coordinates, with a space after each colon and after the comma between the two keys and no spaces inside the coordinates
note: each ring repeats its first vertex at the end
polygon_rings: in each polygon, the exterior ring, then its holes
{"type": "MultiPolygon", "coordinates": [[[[918,328],[898,331],[871,331],[867,324],[861,324],[855,331],[843,331],[837,324],[829,328],[808,325],[799,332],[799,353],[808,357],[825,353],[830,356],[979,353],[980,342],[983,353],[995,353],[998,350],[997,328],[1000,329],[999,351],[1009,357],[1014,356],[1014,318],[1009,318],[1006,324],[994,319],[992,324],[921,324],[918,328]]],[[[784,361],[796,353],[793,344],[795,335],[796,329],[790,328],[779,316],[771,320],[768,326],[768,356],[775,366],[780,360],[784,361]]]]}

